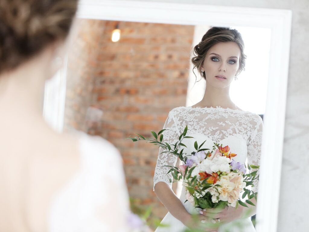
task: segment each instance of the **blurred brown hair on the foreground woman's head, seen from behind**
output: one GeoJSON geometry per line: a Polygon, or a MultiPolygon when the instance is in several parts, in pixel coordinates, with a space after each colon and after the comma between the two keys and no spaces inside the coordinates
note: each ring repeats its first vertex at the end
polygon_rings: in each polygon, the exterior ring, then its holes
{"type": "Polygon", "coordinates": [[[64,40],[77,0],[1,0],[0,73],[11,71],[53,42],[64,40]]]}

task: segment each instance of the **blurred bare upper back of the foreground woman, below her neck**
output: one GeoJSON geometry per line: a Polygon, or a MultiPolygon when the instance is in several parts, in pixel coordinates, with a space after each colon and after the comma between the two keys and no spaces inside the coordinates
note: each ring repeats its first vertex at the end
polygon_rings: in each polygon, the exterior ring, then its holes
{"type": "Polygon", "coordinates": [[[80,166],[78,137],[35,125],[0,132],[0,231],[46,231],[55,193],[80,166]]]}

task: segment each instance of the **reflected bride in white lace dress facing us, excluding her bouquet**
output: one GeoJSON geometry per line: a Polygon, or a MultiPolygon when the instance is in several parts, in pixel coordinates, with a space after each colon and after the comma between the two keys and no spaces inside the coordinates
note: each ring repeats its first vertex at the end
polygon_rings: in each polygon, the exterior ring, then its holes
{"type": "MultiPolygon", "coordinates": [[[[192,58],[194,68],[206,80],[204,97],[194,106],[180,106],[169,112],[163,127],[168,129],[163,132],[163,142],[175,144],[184,127],[188,125],[186,136],[194,139],[183,140],[188,147],[184,149],[184,153],[191,154],[195,150],[195,141],[201,144],[206,140],[202,148],[212,149],[214,142],[222,146],[228,145],[231,151],[237,154],[234,157],[236,162],[245,163],[248,159],[248,165],[259,165],[262,118],[239,109],[229,96],[231,82],[244,70],[246,56],[243,48],[241,35],[235,29],[212,27],[205,33],[201,42],[194,47],[192,58]]],[[[158,227],[156,232],[180,232],[188,227],[201,228],[200,223],[205,221],[214,223],[214,227],[209,226],[205,231],[255,231],[250,220],[256,212],[255,206],[248,205],[249,208],[245,208],[239,205],[237,209],[226,207],[199,212],[199,209],[186,201],[184,187],[179,199],[171,190],[169,179],[172,180],[173,177],[170,173],[167,174],[170,168],[163,167],[175,166],[177,158],[161,153],[163,151],[163,148],[159,148],[154,191],[169,211],[161,221],[169,227],[158,227]],[[198,221],[194,220],[196,217],[198,221]]],[[[257,191],[257,180],[254,184],[252,190],[257,191]]],[[[251,200],[256,203],[254,198],[251,200]]]]}

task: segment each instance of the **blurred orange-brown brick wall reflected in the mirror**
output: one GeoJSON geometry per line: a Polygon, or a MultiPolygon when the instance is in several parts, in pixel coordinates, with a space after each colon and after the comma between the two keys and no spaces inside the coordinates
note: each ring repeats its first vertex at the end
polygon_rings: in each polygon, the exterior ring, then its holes
{"type": "Polygon", "coordinates": [[[152,204],[153,214],[162,218],[167,210],[152,191],[159,149],[125,138],[134,133],[150,137],[150,130],[162,129],[172,108],[185,105],[194,26],[86,19],[78,23],[78,38],[68,57],[65,129],[100,135],[115,144],[124,160],[130,196],[138,204],[152,204]],[[116,24],[121,39],[113,43],[116,24]],[[92,117],[91,106],[103,115],[92,117]]]}

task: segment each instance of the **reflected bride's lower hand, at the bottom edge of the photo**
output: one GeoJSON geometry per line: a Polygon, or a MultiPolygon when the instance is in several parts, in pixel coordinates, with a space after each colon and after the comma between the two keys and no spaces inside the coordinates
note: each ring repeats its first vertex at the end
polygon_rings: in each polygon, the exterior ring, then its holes
{"type": "Polygon", "coordinates": [[[215,224],[216,221],[217,220],[201,214],[192,215],[188,213],[186,218],[182,220],[182,223],[190,229],[202,229],[205,232],[218,232],[219,225],[215,224]],[[202,220],[204,223],[201,222],[202,220]]]}

